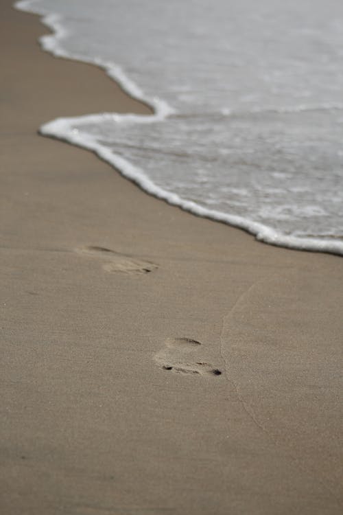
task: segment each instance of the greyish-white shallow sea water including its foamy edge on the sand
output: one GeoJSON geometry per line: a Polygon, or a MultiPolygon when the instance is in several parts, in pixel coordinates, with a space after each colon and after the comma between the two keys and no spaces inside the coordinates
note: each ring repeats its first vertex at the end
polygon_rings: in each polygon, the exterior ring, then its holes
{"type": "MultiPolygon", "coordinates": [[[[342,0],[25,0],[55,55],[106,69],[154,115],[41,132],[268,243],[343,255],[342,0]]],[[[108,106],[110,110],[110,106],[108,106]]]]}

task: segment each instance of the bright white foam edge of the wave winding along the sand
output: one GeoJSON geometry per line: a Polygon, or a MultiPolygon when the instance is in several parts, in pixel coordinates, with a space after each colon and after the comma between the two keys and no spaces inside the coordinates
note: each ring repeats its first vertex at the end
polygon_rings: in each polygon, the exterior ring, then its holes
{"type": "MultiPolygon", "coordinates": [[[[75,62],[84,62],[88,65],[93,65],[104,71],[106,75],[114,80],[115,83],[122,89],[123,93],[128,95],[128,98],[141,102],[142,106],[145,106],[149,113],[147,117],[142,117],[141,114],[137,116],[135,113],[106,113],[108,115],[116,115],[117,117],[126,116],[137,117],[136,122],[139,123],[154,123],[161,120],[167,120],[167,117],[174,112],[164,100],[156,98],[145,98],[143,91],[141,91],[139,85],[132,82],[126,74],[123,72],[121,67],[118,67],[113,62],[107,62],[102,58],[93,60],[92,58],[86,58],[84,56],[73,56],[68,54],[60,47],[59,40],[64,34],[64,27],[60,25],[59,14],[39,14],[38,12],[31,11],[29,8],[29,1],[21,0],[16,1],[15,8],[19,11],[36,14],[39,16],[40,23],[45,25],[51,34],[40,37],[40,45],[45,52],[48,52],[54,57],[64,58],[75,62]],[[20,4],[23,4],[20,6],[20,4]],[[28,4],[25,6],[25,4],[28,4]]],[[[141,187],[141,189],[156,198],[159,198],[169,205],[180,207],[184,211],[191,213],[200,218],[207,218],[215,222],[222,222],[230,227],[235,227],[246,231],[256,238],[257,241],[265,244],[274,245],[284,249],[292,249],[297,251],[305,252],[320,252],[329,253],[333,255],[343,256],[343,242],[338,238],[300,238],[292,234],[285,234],[273,227],[264,225],[261,222],[256,222],[253,219],[245,218],[244,216],[235,215],[232,213],[226,213],[224,211],[217,211],[215,209],[209,209],[199,205],[197,202],[189,201],[187,198],[182,198],[174,192],[169,192],[154,183],[147,176],[144,170],[141,170],[126,159],[123,159],[120,155],[113,153],[105,145],[99,143],[95,139],[91,139],[88,135],[83,135],[82,130],[78,129],[75,133],[73,125],[82,126],[83,124],[94,123],[95,120],[99,121],[102,117],[102,113],[86,114],[77,117],[58,117],[52,119],[49,122],[45,122],[40,126],[39,132],[43,136],[53,137],[65,141],[69,144],[78,146],[85,150],[94,152],[99,159],[104,160],[115,170],[119,171],[123,177],[132,181],[134,184],[141,187]]]]}

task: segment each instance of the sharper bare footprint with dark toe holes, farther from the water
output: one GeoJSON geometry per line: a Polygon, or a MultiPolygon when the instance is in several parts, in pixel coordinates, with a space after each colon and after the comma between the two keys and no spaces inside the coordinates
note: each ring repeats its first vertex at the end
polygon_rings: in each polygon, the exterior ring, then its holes
{"type": "Polygon", "coordinates": [[[157,352],[154,360],[163,370],[179,374],[200,374],[200,376],[220,376],[222,372],[196,358],[200,350],[200,341],[190,338],[169,338],[165,347],[157,352]]]}

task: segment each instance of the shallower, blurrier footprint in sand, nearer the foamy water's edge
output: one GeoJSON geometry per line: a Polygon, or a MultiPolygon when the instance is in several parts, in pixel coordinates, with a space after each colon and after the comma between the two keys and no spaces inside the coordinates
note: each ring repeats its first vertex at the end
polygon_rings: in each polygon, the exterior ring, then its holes
{"type": "Polygon", "coordinates": [[[105,247],[80,247],[76,252],[89,257],[102,260],[102,268],[106,272],[119,272],[126,274],[145,274],[154,271],[157,265],[148,261],[137,260],[120,252],[105,247]]]}

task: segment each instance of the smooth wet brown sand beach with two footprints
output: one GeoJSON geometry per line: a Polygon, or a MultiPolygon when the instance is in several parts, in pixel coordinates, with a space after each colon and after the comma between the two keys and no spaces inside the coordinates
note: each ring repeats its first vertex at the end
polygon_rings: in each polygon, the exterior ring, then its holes
{"type": "Polygon", "coordinates": [[[141,192],[56,117],[149,113],[1,6],[3,515],[342,513],[343,260],[141,192]]]}

